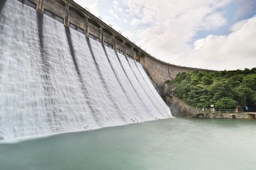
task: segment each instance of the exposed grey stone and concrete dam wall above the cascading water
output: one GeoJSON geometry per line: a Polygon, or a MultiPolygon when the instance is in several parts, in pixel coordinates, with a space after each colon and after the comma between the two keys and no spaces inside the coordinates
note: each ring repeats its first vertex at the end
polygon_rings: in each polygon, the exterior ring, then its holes
{"type": "Polygon", "coordinates": [[[86,37],[101,42],[114,51],[141,63],[157,84],[163,85],[166,80],[174,79],[179,72],[195,70],[213,72],[207,69],[170,64],[151,56],[140,46],[114,30],[111,25],[91,14],[89,9],[82,8],[73,0],[24,0],[24,2],[33,2],[38,12],[46,14],[65,26],[85,34],[86,37]]]}

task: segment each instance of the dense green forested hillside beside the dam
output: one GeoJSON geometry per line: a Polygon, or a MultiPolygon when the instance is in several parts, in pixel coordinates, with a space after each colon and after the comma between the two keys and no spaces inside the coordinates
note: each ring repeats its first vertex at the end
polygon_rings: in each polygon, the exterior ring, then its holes
{"type": "Polygon", "coordinates": [[[178,98],[198,108],[245,109],[256,111],[256,68],[216,73],[179,73],[171,81],[178,98]]]}

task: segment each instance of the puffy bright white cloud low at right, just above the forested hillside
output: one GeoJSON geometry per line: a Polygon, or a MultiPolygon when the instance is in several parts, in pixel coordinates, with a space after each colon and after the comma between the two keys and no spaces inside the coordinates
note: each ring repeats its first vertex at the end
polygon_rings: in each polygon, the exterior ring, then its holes
{"type": "MultiPolygon", "coordinates": [[[[239,23],[235,25],[237,24],[239,23]]],[[[227,36],[209,35],[205,39],[196,41],[194,44],[196,51],[186,58],[186,63],[220,70],[255,67],[255,28],[256,17],[253,17],[240,29],[227,36]]]]}

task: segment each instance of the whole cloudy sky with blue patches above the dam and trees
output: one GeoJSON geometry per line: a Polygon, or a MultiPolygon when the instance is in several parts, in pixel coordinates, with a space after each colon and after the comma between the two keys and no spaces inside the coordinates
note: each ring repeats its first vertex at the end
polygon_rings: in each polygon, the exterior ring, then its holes
{"type": "Polygon", "coordinates": [[[256,0],[75,0],[152,56],[175,65],[256,67],[256,0]]]}

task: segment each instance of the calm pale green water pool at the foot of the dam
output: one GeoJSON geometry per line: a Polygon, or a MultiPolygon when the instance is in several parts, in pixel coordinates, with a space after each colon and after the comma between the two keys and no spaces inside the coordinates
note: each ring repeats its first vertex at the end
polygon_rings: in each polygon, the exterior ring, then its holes
{"type": "Polygon", "coordinates": [[[165,119],[0,144],[0,170],[255,170],[256,121],[165,119]]]}

